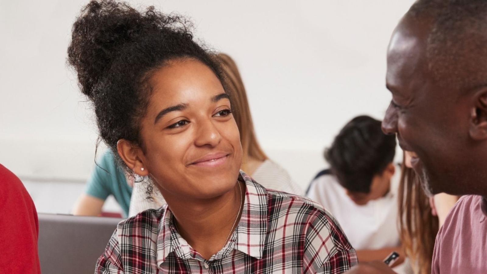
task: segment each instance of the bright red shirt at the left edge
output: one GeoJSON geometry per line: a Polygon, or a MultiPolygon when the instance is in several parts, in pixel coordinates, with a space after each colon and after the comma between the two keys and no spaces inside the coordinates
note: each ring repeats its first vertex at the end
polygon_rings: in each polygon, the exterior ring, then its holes
{"type": "Polygon", "coordinates": [[[0,273],[40,273],[39,223],[31,196],[0,164],[0,273]]]}

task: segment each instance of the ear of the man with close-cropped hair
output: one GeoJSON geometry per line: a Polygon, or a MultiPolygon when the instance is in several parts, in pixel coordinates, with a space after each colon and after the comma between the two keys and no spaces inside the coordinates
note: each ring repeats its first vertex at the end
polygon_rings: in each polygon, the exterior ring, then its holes
{"type": "Polygon", "coordinates": [[[474,95],[474,105],[470,110],[469,135],[481,141],[487,139],[487,88],[474,95]]]}

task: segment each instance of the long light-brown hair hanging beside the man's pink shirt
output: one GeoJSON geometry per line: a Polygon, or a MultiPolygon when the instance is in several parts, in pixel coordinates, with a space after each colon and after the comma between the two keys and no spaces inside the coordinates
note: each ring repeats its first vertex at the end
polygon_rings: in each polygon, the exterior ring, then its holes
{"type": "Polygon", "coordinates": [[[403,164],[399,184],[399,232],[414,274],[430,274],[438,217],[431,214],[428,196],[416,173],[403,164]]]}

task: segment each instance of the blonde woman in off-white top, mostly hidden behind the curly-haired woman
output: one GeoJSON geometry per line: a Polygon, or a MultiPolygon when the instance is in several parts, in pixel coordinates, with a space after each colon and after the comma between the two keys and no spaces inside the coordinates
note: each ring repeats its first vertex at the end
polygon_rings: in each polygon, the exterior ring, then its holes
{"type": "MultiPolygon", "coordinates": [[[[259,145],[254,131],[244,82],[240,76],[237,64],[230,56],[224,53],[218,54],[217,57],[227,78],[228,88],[232,92],[234,103],[233,117],[239,128],[240,142],[244,152],[241,169],[267,189],[303,196],[304,191],[292,181],[291,176],[280,165],[265,155],[259,145]]],[[[136,215],[147,209],[157,209],[165,204],[164,197],[160,193],[148,194],[145,189],[146,186],[144,184],[134,184],[129,216],[136,215]]]]}

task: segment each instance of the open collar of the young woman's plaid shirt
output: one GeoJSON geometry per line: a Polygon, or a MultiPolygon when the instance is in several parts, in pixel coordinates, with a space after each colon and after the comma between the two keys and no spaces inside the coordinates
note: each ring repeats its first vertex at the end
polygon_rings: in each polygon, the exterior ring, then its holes
{"type": "MultiPolygon", "coordinates": [[[[245,182],[242,216],[225,248],[213,255],[210,261],[225,257],[233,249],[257,259],[262,258],[267,235],[267,192],[242,170],[239,180],[245,182]]],[[[161,210],[164,214],[158,226],[157,265],[160,267],[171,252],[175,252],[181,259],[194,258],[192,248],[174,226],[174,218],[169,207],[165,206],[161,210]]]]}

